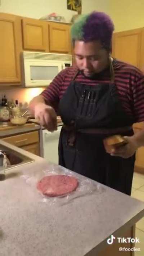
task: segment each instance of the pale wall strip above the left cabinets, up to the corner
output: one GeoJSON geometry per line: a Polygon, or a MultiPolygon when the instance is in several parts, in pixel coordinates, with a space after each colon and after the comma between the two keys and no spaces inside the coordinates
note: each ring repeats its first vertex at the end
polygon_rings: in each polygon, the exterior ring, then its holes
{"type": "MultiPolygon", "coordinates": [[[[82,0],[82,13],[93,10],[109,11],[109,0],[82,0]]],[[[39,19],[42,16],[56,12],[70,22],[77,12],[67,10],[67,0],[1,0],[0,12],[13,13],[24,17],[39,19]]]]}

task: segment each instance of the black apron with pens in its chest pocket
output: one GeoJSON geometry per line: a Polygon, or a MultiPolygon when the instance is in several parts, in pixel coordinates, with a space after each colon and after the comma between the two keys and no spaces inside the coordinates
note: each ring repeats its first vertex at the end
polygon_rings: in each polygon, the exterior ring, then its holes
{"type": "Polygon", "coordinates": [[[89,86],[72,81],[59,102],[59,114],[64,123],[59,165],[130,195],[135,155],[114,157],[103,145],[107,136],[133,135],[134,120],[123,110],[115,84],[89,86]]]}

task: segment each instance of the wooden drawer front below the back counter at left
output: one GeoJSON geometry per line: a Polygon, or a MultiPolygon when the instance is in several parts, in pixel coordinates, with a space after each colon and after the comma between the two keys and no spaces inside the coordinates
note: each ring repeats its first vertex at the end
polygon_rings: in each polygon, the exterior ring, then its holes
{"type": "Polygon", "coordinates": [[[39,132],[33,131],[31,133],[24,133],[20,135],[15,135],[7,138],[3,138],[5,142],[13,144],[17,147],[21,147],[24,145],[32,144],[35,142],[39,142],[39,132]]]}

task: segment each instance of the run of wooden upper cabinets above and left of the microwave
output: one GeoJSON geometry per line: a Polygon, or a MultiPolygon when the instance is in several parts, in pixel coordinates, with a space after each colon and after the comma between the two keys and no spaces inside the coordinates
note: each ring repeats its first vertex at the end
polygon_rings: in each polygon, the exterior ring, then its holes
{"type": "Polygon", "coordinates": [[[0,13],[0,85],[21,85],[21,53],[71,54],[71,24],[0,13]]]}

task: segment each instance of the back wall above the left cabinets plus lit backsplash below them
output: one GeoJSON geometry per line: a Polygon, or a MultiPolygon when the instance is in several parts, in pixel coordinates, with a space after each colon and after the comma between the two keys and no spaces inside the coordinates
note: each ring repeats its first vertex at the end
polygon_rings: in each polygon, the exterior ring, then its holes
{"type": "MultiPolygon", "coordinates": [[[[82,13],[86,14],[93,10],[109,13],[109,0],[82,0],[82,13]]],[[[67,10],[67,0],[1,0],[0,12],[12,13],[24,17],[39,19],[42,16],[56,12],[64,16],[66,22],[70,22],[77,12],[67,10]]],[[[30,100],[41,93],[44,88],[23,89],[18,87],[0,87],[0,100],[5,93],[8,100],[18,99],[24,107],[30,100]]]]}

